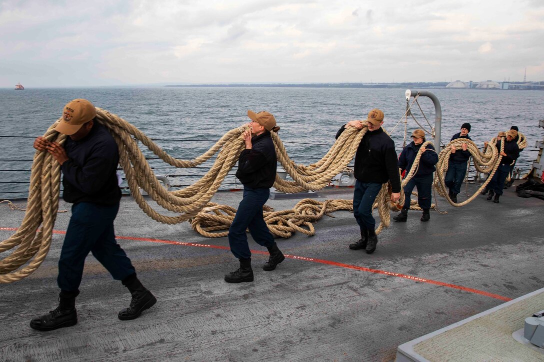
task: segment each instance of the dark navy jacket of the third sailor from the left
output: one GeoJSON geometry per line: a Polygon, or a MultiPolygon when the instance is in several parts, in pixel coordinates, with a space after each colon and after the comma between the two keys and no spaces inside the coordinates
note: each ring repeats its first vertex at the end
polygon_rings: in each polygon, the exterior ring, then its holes
{"type": "MultiPolygon", "coordinates": [[[[336,133],[338,138],[344,132],[345,124],[336,133]]],[[[399,167],[395,142],[378,128],[364,134],[355,153],[355,178],[361,182],[385,184],[391,181],[392,192],[400,192],[399,167]]]]}

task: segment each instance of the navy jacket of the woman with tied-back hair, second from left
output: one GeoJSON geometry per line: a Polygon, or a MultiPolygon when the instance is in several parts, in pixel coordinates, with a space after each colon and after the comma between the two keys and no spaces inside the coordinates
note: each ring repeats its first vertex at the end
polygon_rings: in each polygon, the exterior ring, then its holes
{"type": "Polygon", "coordinates": [[[240,154],[236,177],[252,189],[271,188],[276,180],[277,158],[270,132],[251,138],[251,145],[240,154]]]}

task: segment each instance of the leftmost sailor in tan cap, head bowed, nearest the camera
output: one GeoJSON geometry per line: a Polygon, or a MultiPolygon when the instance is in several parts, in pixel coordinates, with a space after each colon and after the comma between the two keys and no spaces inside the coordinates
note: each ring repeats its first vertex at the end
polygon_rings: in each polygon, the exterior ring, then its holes
{"type": "Polygon", "coordinates": [[[120,320],[133,320],[151,308],[157,298],[136,276],[136,270],[114,235],[114,221],[119,211],[121,190],[116,170],[119,148],[108,129],[94,122],[96,110],[86,99],[74,99],[65,105],[55,129],[68,135],[63,145],[43,137],[34,148],[48,152],[59,163],[63,177],[64,201],[73,203],[58,263],[59,306],[30,321],[37,330],[53,330],[77,324],[76,297],[83,276],[85,258],[90,251],[120,280],[131,293],[128,308],[120,320]]]}

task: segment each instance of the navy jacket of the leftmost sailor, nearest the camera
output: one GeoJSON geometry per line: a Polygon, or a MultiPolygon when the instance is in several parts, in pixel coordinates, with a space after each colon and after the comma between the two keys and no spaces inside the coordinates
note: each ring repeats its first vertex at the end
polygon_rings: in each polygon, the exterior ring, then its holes
{"type": "Polygon", "coordinates": [[[91,202],[113,205],[121,199],[116,175],[119,149],[112,135],[94,123],[85,138],[66,138],[64,149],[68,160],[60,166],[63,171],[63,198],[66,202],[91,202]]]}

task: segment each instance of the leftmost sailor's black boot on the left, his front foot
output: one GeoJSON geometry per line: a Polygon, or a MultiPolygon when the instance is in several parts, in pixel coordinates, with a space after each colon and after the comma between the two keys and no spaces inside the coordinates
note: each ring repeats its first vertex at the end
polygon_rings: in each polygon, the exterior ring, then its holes
{"type": "Polygon", "coordinates": [[[59,306],[41,317],[30,321],[30,327],[38,330],[53,330],[63,327],[75,326],[77,323],[76,297],[79,290],[67,292],[60,291],[59,306]]]}

